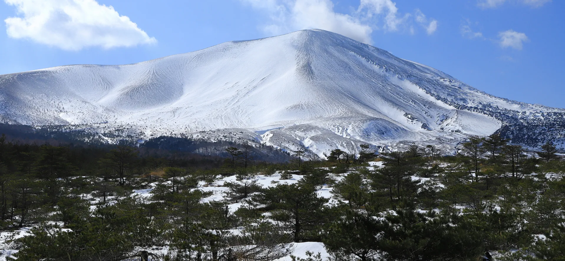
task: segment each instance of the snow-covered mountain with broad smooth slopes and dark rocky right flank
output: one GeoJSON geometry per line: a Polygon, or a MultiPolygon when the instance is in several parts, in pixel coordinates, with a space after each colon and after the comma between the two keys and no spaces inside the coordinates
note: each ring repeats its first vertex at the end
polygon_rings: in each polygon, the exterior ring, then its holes
{"type": "Polygon", "coordinates": [[[226,42],[128,65],[0,76],[3,122],[77,125],[101,135],[250,136],[322,156],[360,143],[448,147],[499,131],[536,147],[564,141],[565,110],[479,91],[425,65],[324,30],[226,42]],[[244,133],[245,132],[245,133],[244,133]]]}

